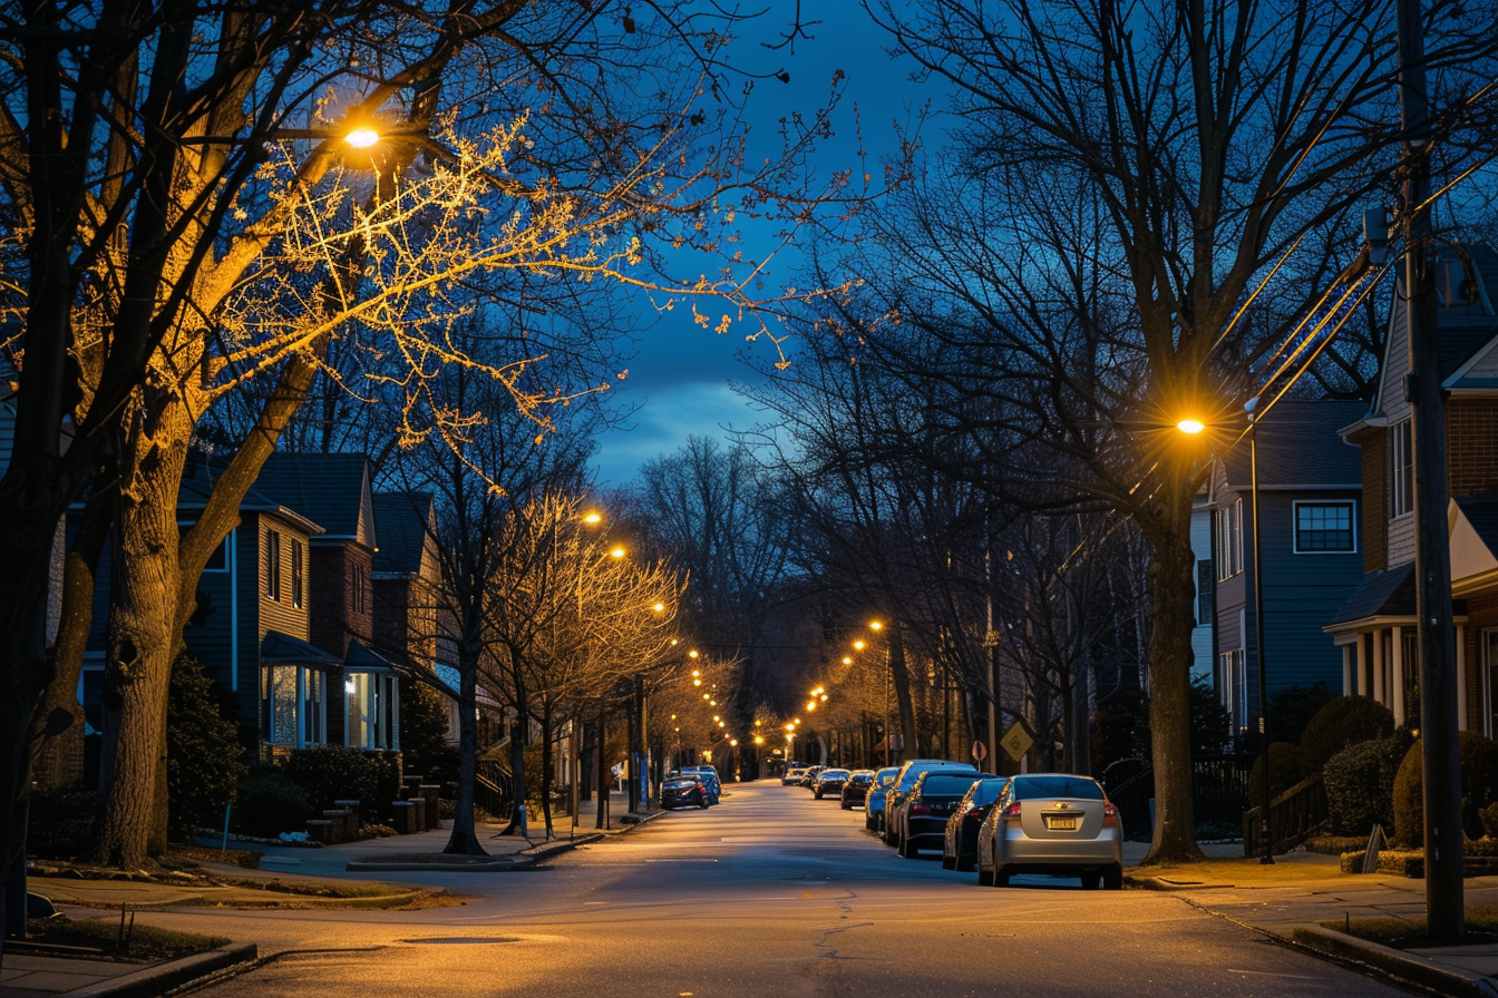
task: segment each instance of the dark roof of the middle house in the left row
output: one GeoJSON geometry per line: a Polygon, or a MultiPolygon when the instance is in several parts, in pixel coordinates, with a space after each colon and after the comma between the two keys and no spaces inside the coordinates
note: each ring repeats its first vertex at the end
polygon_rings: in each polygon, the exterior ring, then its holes
{"type": "Polygon", "coordinates": [[[370,506],[369,458],[363,453],[273,453],[255,488],[322,524],[327,533],[321,540],[379,546],[370,506]]]}

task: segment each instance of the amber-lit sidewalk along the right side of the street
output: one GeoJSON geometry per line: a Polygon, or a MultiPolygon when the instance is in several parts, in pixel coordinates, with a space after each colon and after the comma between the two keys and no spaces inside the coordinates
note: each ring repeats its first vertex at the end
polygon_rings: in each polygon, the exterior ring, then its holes
{"type": "MultiPolygon", "coordinates": [[[[1255,875],[1254,883],[1186,880],[1182,868],[1174,868],[1167,880],[1137,868],[1146,850],[1144,844],[1134,842],[1124,850],[1125,880],[1132,886],[1174,892],[1194,907],[1290,946],[1377,970],[1432,994],[1498,998],[1498,943],[1396,950],[1320,925],[1348,919],[1423,919],[1423,880],[1342,874],[1338,857],[1317,853],[1276,856],[1276,868],[1284,875],[1270,874],[1266,880],[1255,875]],[[1318,877],[1308,866],[1324,868],[1326,875],[1318,877]]],[[[1243,856],[1242,845],[1204,845],[1203,851],[1209,857],[1243,856]]],[[[1498,905],[1498,877],[1468,877],[1462,883],[1468,905],[1498,905]]]]}

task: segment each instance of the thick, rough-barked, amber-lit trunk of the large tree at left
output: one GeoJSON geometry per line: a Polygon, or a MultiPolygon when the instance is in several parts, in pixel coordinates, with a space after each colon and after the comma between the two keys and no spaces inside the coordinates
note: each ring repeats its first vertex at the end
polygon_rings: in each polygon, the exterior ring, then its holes
{"type": "Polygon", "coordinates": [[[186,410],[157,398],[121,453],[105,648],[103,818],[97,859],[135,868],[166,848],[166,694],[177,636],[177,489],[186,410]],[[159,786],[160,784],[160,786],[159,786]]]}

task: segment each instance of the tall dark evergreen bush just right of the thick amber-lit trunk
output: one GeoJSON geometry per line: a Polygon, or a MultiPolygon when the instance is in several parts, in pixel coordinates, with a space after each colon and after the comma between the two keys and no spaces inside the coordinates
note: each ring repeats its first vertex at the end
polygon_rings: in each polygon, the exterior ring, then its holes
{"type": "Polygon", "coordinates": [[[181,655],[172,664],[166,702],[168,830],[190,839],[196,827],[223,821],[223,805],[247,768],[240,762],[240,724],[202,664],[181,655]]]}

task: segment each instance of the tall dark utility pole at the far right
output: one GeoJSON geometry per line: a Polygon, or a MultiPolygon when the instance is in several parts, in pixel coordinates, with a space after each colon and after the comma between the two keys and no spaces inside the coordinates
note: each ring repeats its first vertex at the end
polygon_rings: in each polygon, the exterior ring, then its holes
{"type": "Polygon", "coordinates": [[[1425,769],[1425,914],[1435,946],[1465,935],[1461,762],[1456,742],[1456,634],[1446,525],[1446,399],[1429,260],[1431,117],[1420,0],[1399,0],[1399,117],[1405,136],[1405,317],[1413,410],[1416,591],[1420,615],[1420,742],[1425,769]]]}

